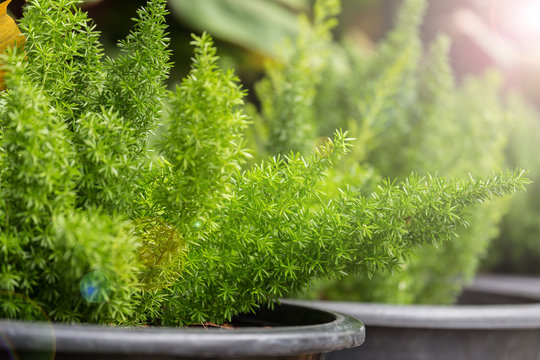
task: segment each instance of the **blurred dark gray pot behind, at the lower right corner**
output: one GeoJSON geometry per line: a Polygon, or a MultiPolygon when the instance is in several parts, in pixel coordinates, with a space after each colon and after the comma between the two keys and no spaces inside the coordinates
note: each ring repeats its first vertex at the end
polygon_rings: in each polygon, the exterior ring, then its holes
{"type": "Polygon", "coordinates": [[[480,276],[456,306],[302,303],[366,324],[361,348],[333,352],[327,360],[540,359],[538,278],[480,276]]]}

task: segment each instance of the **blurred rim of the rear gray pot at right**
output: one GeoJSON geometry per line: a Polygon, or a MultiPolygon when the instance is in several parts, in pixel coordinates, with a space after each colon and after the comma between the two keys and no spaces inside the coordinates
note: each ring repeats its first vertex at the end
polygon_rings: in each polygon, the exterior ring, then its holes
{"type": "Polygon", "coordinates": [[[468,291],[512,296],[523,304],[396,305],[346,301],[295,301],[295,304],[338,311],[370,326],[424,329],[540,329],[540,278],[482,275],[468,291]],[[531,301],[538,303],[530,304],[531,301]]]}

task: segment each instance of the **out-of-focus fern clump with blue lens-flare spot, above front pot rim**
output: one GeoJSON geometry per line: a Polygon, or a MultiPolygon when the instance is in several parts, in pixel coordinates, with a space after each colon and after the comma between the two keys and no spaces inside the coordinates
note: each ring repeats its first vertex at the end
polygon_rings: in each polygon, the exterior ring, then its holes
{"type": "Polygon", "coordinates": [[[58,276],[55,295],[43,303],[57,321],[123,323],[134,317],[140,296],[140,241],[129,223],[92,212],[53,218],[55,259],[50,276],[58,276]]]}

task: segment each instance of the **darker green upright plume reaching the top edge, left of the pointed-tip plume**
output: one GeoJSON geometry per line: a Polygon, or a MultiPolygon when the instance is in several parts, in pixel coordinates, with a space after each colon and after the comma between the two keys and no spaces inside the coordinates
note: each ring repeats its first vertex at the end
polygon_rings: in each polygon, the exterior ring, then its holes
{"type": "Polygon", "coordinates": [[[166,0],[149,1],[137,11],[135,26],[119,43],[120,56],[105,63],[105,88],[99,104],[113,106],[139,137],[139,151],[160,118],[171,63],[166,0]]]}

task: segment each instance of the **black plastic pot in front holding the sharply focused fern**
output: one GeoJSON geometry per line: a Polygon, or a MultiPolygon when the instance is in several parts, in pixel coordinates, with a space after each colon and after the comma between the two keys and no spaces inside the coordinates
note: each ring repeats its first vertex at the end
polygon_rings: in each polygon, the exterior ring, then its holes
{"type": "Polygon", "coordinates": [[[232,330],[122,328],[2,320],[0,358],[311,360],[359,346],[365,338],[363,324],[354,318],[286,303],[239,316],[233,325],[232,330]]]}

